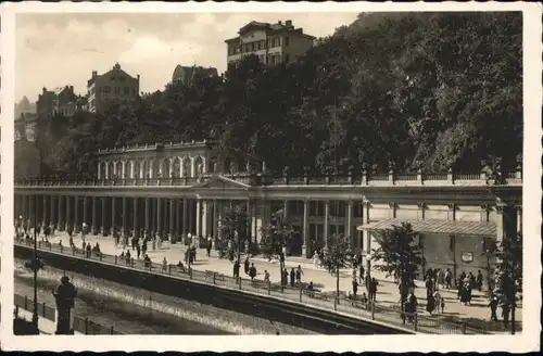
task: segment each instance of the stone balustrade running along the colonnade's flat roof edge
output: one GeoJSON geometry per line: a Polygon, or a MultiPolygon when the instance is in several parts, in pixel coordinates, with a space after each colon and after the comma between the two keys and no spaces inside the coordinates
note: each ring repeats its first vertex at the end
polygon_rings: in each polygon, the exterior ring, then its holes
{"type": "MultiPolygon", "coordinates": [[[[212,175],[202,177],[178,177],[178,178],[40,178],[15,180],[15,187],[191,187],[212,178],[212,175]]],[[[415,174],[370,174],[363,171],[355,176],[349,174],[340,175],[308,175],[303,176],[274,176],[267,174],[226,174],[224,177],[253,187],[258,186],[363,186],[363,187],[412,187],[412,186],[521,186],[522,171],[509,171],[505,174],[489,175],[487,173],[422,173],[415,174]]]]}

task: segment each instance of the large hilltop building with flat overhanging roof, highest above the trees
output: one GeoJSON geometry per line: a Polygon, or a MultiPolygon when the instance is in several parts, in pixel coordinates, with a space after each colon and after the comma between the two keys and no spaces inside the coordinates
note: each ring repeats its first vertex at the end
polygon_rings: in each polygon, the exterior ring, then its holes
{"type": "Polygon", "coordinates": [[[228,65],[249,54],[257,55],[266,65],[292,62],[307,52],[315,41],[315,37],[304,34],[302,28],[294,28],[291,20],[277,24],[252,21],[238,34],[225,41],[228,65]]]}

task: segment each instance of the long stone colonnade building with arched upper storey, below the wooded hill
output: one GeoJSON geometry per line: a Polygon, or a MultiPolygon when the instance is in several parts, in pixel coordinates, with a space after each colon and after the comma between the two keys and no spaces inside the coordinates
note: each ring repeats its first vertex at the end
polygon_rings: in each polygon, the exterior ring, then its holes
{"type": "Polygon", "coordinates": [[[409,223],[427,267],[477,271],[491,241],[522,230],[522,177],[516,171],[456,174],[270,175],[219,154],[212,142],[134,145],[98,152],[93,179],[15,182],[15,216],[43,226],[92,233],[141,229],[199,244],[220,240],[227,206],[242,205],[251,241],[262,240],[274,212],[289,218],[295,238],[288,254],[311,258],[326,237],[344,233],[370,256],[379,231],[409,223]],[[37,215],[36,215],[37,214],[37,215]]]}

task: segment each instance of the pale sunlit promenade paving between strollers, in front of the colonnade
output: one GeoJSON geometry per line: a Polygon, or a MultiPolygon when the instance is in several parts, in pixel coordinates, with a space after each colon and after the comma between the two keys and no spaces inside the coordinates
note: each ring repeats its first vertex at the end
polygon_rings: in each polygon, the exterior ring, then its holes
{"type": "MultiPolygon", "coordinates": [[[[64,232],[56,232],[53,238],[50,239],[52,243],[58,243],[62,240],[64,246],[68,245],[68,236],[64,232]]],[[[122,246],[115,246],[114,241],[110,237],[102,236],[87,236],[86,241],[94,245],[97,242],[100,244],[100,249],[105,254],[119,255],[123,252],[122,246]]],[[[79,236],[74,238],[74,243],[77,247],[81,247],[83,239],[79,236]]],[[[179,260],[184,260],[186,246],[181,244],[163,243],[161,250],[152,251],[152,244],[149,243],[148,255],[153,263],[162,264],[164,257],[166,257],[168,264],[176,264],[179,260]]],[[[132,256],[136,254],[130,252],[132,256]]],[[[197,260],[192,265],[195,270],[212,270],[226,276],[232,275],[232,264],[228,259],[220,259],[216,255],[217,253],[212,252],[211,257],[206,257],[205,250],[200,249],[197,253],[197,260]]],[[[263,279],[264,270],[267,270],[270,275],[270,279],[274,282],[280,280],[279,274],[279,263],[268,262],[267,258],[251,258],[257,269],[257,279],[263,279]]],[[[185,262],[184,262],[185,263],[185,262]]],[[[313,281],[317,289],[321,291],[334,291],[336,290],[336,277],[332,277],[326,270],[315,269],[312,262],[302,264],[299,262],[292,262],[287,258],[286,266],[290,269],[292,267],[302,266],[304,275],[302,280],[305,282],[313,281]]],[[[399,293],[397,285],[389,278],[386,278],[383,272],[372,270],[371,275],[380,280],[377,302],[381,305],[397,305],[399,293]]],[[[340,290],[351,291],[352,290],[352,270],[345,269],[340,271],[340,290]]],[[[364,290],[359,288],[359,293],[364,290]]],[[[473,292],[473,297],[470,306],[460,305],[456,297],[456,290],[440,290],[442,296],[445,298],[445,310],[442,315],[443,318],[450,319],[454,316],[455,318],[465,318],[471,320],[489,320],[490,309],[488,308],[488,300],[483,293],[478,291],[473,292]],[[449,317],[449,318],[447,318],[449,317]]],[[[426,306],[426,289],[417,288],[415,291],[419,305],[424,309],[426,306]]],[[[521,308],[516,313],[517,320],[521,320],[521,308]]]]}

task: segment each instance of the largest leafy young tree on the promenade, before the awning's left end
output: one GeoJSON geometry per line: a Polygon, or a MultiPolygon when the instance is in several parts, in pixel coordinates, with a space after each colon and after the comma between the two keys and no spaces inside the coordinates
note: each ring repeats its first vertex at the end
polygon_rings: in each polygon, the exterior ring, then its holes
{"type": "Polygon", "coordinates": [[[379,232],[378,249],[371,250],[371,260],[381,262],[375,268],[387,272],[387,276],[397,275],[400,279],[400,308],[404,318],[405,301],[409,288],[415,285],[419,268],[424,266],[422,249],[417,243],[418,233],[411,224],[402,223],[379,232]]]}

